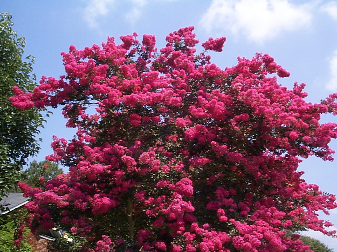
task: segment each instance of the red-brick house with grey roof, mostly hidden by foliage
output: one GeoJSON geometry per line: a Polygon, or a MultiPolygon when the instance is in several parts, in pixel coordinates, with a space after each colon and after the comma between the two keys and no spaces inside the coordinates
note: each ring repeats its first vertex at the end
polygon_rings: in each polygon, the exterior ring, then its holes
{"type": "MultiPolygon", "coordinates": [[[[8,214],[24,207],[30,200],[23,197],[23,193],[9,193],[0,201],[0,206],[4,209],[0,210],[0,215],[8,214]]],[[[48,243],[60,237],[61,232],[58,230],[45,230],[42,227],[37,228],[35,234],[30,232],[26,238],[26,242],[33,247],[33,252],[48,252],[48,243]]]]}

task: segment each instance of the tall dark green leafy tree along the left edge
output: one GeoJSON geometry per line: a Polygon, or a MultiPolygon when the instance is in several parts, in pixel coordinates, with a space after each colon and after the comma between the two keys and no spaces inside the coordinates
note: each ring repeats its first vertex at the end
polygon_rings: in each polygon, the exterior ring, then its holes
{"type": "Polygon", "coordinates": [[[0,199],[21,180],[27,158],[38,153],[36,136],[44,122],[43,109],[21,111],[8,100],[13,86],[26,91],[36,86],[31,74],[34,57],[23,59],[26,42],[12,26],[11,15],[0,13],[0,199]]]}

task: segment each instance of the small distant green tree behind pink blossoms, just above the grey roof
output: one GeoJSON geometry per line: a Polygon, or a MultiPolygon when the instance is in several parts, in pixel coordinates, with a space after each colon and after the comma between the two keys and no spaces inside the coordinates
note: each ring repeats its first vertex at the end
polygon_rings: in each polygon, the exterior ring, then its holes
{"type": "Polygon", "coordinates": [[[44,181],[48,181],[62,172],[62,168],[59,168],[56,163],[47,160],[41,162],[34,160],[29,164],[29,168],[25,170],[26,178],[23,182],[33,187],[41,187],[41,177],[44,181]]]}

